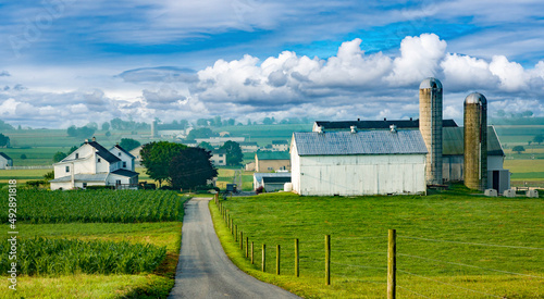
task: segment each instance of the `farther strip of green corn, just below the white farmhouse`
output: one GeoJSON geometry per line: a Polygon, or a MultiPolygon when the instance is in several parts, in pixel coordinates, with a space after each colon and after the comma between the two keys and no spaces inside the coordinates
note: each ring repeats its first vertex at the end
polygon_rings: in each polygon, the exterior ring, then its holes
{"type": "MultiPolygon", "coordinates": [[[[136,223],[182,221],[183,201],[165,190],[18,190],[17,222],[136,223]]],[[[8,190],[0,191],[2,207],[8,207],[8,190]]],[[[8,209],[0,209],[0,221],[8,222],[8,209]]]]}

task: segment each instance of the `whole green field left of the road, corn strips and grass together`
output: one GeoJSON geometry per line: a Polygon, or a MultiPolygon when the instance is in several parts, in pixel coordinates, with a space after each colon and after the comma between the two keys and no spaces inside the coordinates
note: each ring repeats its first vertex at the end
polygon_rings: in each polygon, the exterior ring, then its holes
{"type": "MultiPolygon", "coordinates": [[[[7,190],[1,192],[8,207],[7,190]]],[[[17,296],[165,297],[174,284],[186,200],[161,190],[17,190],[17,296]]],[[[3,223],[7,212],[0,212],[3,223]]],[[[0,257],[3,276],[5,259],[0,257]]],[[[0,298],[12,298],[7,296],[0,298]]]]}

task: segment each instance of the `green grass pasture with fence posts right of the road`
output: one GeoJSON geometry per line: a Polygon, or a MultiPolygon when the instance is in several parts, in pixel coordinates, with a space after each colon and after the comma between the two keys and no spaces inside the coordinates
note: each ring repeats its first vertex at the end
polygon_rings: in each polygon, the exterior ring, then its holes
{"type": "Polygon", "coordinates": [[[306,298],[385,297],[388,228],[396,228],[398,236],[399,296],[544,296],[542,199],[462,192],[358,198],[271,194],[221,202],[238,232],[255,242],[251,265],[211,203],[218,235],[233,261],[257,278],[306,298]],[[326,234],[332,235],[329,287],[324,286],[326,234]],[[295,238],[300,242],[299,278],[293,275],[295,238]],[[267,273],[260,272],[262,244],[267,244],[267,273]],[[282,246],[280,276],[272,274],[276,245],[282,246]]]}

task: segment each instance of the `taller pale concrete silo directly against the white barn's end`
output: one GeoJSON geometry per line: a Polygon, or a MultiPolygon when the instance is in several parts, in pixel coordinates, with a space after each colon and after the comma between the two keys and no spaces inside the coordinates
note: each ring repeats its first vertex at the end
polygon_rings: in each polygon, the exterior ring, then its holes
{"type": "Polygon", "coordinates": [[[419,86],[419,130],[425,141],[426,184],[442,184],[442,83],[426,78],[419,86]]]}

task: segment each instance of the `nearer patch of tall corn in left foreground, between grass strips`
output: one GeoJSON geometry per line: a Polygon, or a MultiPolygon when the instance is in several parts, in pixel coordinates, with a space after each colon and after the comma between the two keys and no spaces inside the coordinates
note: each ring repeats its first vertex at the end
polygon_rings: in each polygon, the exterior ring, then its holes
{"type": "MultiPolygon", "coordinates": [[[[0,242],[0,250],[9,252],[9,246],[0,242]]],[[[126,241],[35,238],[18,246],[17,271],[25,275],[136,274],[152,272],[166,257],[165,247],[126,241]]],[[[1,273],[10,264],[8,254],[1,254],[1,273]]]]}

